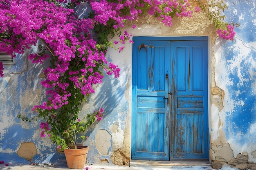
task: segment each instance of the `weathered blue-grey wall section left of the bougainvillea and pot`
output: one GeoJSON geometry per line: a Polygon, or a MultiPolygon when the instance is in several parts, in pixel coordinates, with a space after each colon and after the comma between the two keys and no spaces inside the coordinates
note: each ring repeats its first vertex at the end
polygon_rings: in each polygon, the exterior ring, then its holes
{"type": "Polygon", "coordinates": [[[40,85],[43,67],[27,60],[27,54],[36,50],[26,51],[16,65],[4,65],[0,78],[0,157],[7,163],[43,163],[56,154],[55,146],[40,137],[40,120],[29,123],[17,117],[33,116],[33,106],[45,99],[40,85]]]}

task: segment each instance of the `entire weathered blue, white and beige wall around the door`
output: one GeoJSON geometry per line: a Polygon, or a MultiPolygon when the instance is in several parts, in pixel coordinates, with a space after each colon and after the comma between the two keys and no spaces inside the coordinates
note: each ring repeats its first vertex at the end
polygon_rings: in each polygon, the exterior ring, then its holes
{"type": "MultiPolygon", "coordinates": [[[[254,0],[225,2],[229,7],[225,11],[227,20],[240,23],[235,29],[234,42],[216,38],[216,28],[202,13],[195,13],[192,18],[173,18],[171,27],[144,15],[136,23],[137,28],[132,29],[134,23],[127,22],[122,31],[127,30],[133,36],[209,36],[209,160],[216,169],[225,164],[254,169],[256,4],[254,0]]],[[[116,41],[118,37],[110,40],[116,41]]],[[[81,108],[82,115],[100,107],[105,110],[104,119],[85,132],[89,139],[82,144],[89,146],[88,163],[128,166],[130,162],[132,44],[124,46],[122,53],[109,49],[106,54],[109,62],[121,68],[120,77],[104,75],[96,93],[81,108]]],[[[18,114],[32,116],[31,108],[46,97],[45,89],[40,86],[45,76],[42,74],[44,68],[31,64],[26,57],[17,65],[4,68],[5,77],[0,78],[0,157],[13,162],[28,159],[35,163],[65,159],[49,139],[40,138],[40,121],[28,123],[17,118],[18,114]],[[16,155],[20,145],[27,142],[36,146],[37,152],[32,159],[16,155]]]]}

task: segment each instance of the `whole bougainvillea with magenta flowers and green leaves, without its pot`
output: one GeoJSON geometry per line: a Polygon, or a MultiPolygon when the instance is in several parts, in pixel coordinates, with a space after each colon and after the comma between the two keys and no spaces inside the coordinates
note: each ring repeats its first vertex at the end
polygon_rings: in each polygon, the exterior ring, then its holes
{"type": "MultiPolygon", "coordinates": [[[[108,63],[105,54],[115,44],[132,43],[132,35],[119,31],[126,21],[136,23],[141,14],[148,13],[171,26],[173,17],[192,17],[193,12],[203,11],[220,37],[234,40],[234,26],[222,22],[220,13],[209,9],[215,5],[219,11],[224,10],[222,1],[211,6],[202,0],[194,2],[198,6],[192,9],[189,0],[0,0],[0,51],[13,55],[37,46],[38,51],[28,56],[32,63],[43,64],[50,58],[50,66],[43,71],[46,78],[41,82],[47,88],[48,98],[33,108],[34,119],[43,119],[41,136],[49,135],[62,149],[76,146],[76,133],[84,132],[102,118],[101,108],[79,119],[79,106],[95,92],[93,84],[102,82],[102,71],[119,77],[120,69],[108,63]],[[74,13],[73,7],[81,3],[89,4],[92,9],[86,18],[74,13]],[[119,41],[110,42],[108,36],[115,34],[119,41]]],[[[123,49],[120,46],[119,52],[123,49]]],[[[2,70],[0,63],[1,77],[2,70]]]]}

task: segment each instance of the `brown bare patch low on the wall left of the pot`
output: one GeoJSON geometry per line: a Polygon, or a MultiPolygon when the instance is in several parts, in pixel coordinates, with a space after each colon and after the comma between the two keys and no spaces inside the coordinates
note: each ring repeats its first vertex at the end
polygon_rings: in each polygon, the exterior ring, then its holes
{"type": "Polygon", "coordinates": [[[31,162],[36,153],[35,144],[33,142],[25,142],[20,145],[17,155],[31,162]]]}

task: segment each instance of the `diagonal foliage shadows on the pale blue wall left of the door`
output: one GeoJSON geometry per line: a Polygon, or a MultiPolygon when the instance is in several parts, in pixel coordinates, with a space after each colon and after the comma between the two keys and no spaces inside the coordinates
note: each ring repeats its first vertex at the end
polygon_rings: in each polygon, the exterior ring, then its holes
{"type": "MultiPolygon", "coordinates": [[[[126,75],[124,75],[126,76],[126,75]]],[[[101,121],[101,128],[106,129],[109,122],[114,122],[117,119],[124,121],[125,114],[128,110],[128,102],[124,96],[126,90],[126,81],[121,82],[121,77],[115,78],[114,75],[106,75],[104,73],[104,78],[102,83],[98,84],[95,88],[95,93],[91,94],[87,99],[88,102],[84,103],[82,114],[88,114],[94,112],[94,110],[104,109],[103,120],[101,121]],[[88,112],[90,111],[90,112],[88,112]],[[111,115],[111,116],[110,116],[111,115]]],[[[86,132],[86,136],[90,136],[95,126],[98,124],[95,121],[86,132]]]]}

